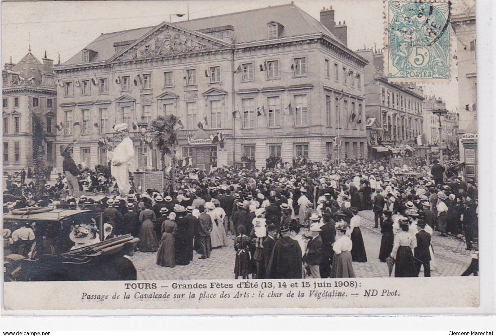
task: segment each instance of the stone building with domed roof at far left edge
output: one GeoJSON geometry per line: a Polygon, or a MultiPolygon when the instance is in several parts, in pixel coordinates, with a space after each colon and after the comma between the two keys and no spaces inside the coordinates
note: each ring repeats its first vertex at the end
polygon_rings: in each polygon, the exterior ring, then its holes
{"type": "Polygon", "coordinates": [[[45,122],[46,163],[56,163],[57,89],[53,60],[40,62],[29,50],[17,63],[2,69],[2,163],[3,171],[13,173],[33,168],[33,113],[45,122]]]}

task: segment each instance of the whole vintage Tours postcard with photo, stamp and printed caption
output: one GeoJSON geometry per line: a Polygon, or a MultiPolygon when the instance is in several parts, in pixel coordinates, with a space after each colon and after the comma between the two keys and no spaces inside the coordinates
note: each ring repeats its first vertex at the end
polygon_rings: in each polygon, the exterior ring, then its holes
{"type": "Polygon", "coordinates": [[[5,314],[479,307],[475,1],[1,22],[5,314]]]}

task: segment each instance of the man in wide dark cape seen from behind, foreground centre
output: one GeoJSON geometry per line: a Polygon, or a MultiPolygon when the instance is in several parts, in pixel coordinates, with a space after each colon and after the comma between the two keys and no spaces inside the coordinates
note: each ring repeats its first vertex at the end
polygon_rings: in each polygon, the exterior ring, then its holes
{"type": "Polygon", "coordinates": [[[302,279],[302,249],[298,241],[290,237],[289,227],[281,227],[282,238],[277,240],[269,265],[266,279],[302,279]]]}

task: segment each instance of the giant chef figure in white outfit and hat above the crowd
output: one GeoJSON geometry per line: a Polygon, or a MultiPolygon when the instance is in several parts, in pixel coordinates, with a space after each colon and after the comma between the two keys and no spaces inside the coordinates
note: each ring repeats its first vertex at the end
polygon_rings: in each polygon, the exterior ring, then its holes
{"type": "MultiPolygon", "coordinates": [[[[121,194],[128,194],[131,185],[129,184],[129,166],[132,164],[134,158],[134,147],[132,140],[129,138],[129,128],[126,123],[117,124],[114,130],[121,136],[121,143],[117,145],[113,152],[108,153],[111,160],[112,176],[117,181],[119,192],[121,194]]],[[[109,148],[109,151],[111,148],[109,148]]]]}

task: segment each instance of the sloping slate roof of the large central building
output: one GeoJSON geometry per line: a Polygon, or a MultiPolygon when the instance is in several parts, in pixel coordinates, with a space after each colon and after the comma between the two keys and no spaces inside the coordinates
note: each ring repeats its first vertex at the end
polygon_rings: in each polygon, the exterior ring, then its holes
{"type": "MultiPolygon", "coordinates": [[[[190,31],[232,25],[234,27],[235,43],[243,44],[247,42],[268,40],[267,23],[271,21],[279,22],[284,26],[279,35],[280,38],[323,33],[340,43],[339,39],[318,20],[293,3],[198,18],[189,21],[180,21],[175,22],[172,25],[190,31]]],[[[143,27],[102,34],[84,49],[90,49],[97,52],[90,63],[106,61],[115,55],[114,43],[135,41],[156,27],[157,26],[143,27]]],[[[81,64],[83,50],[62,63],[62,65],[81,64]]]]}

